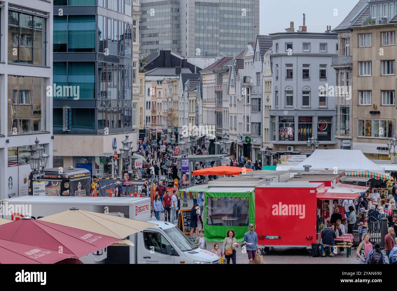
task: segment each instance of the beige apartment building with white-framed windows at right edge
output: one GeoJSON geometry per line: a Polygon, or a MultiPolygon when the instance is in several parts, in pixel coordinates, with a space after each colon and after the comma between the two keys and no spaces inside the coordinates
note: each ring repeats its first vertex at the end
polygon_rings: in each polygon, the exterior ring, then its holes
{"type": "Polygon", "coordinates": [[[350,42],[352,146],[368,158],[378,160],[389,159],[386,143],[395,135],[397,113],[395,2],[388,4],[378,7],[370,2],[364,7],[351,27],[350,42]]]}

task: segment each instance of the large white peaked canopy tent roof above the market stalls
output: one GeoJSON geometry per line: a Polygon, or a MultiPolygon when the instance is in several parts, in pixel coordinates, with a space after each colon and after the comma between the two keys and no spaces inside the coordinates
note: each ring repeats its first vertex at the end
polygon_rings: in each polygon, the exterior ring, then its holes
{"type": "Polygon", "coordinates": [[[304,165],[310,165],[312,169],[338,169],[345,171],[373,171],[385,173],[382,165],[377,165],[369,160],[361,150],[315,150],[303,162],[291,167],[291,170],[303,170],[304,165]]]}

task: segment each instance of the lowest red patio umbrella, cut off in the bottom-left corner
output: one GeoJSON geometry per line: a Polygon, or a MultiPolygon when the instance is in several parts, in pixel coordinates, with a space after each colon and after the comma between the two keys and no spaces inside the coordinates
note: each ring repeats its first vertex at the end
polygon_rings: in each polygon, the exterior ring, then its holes
{"type": "Polygon", "coordinates": [[[0,240],[0,264],[54,264],[70,257],[50,249],[0,240]]]}

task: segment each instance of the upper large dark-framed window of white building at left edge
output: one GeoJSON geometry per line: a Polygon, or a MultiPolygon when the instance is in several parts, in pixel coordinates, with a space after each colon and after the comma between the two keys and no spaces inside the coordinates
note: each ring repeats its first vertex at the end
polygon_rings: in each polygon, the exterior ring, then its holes
{"type": "Polygon", "coordinates": [[[46,65],[46,19],[8,12],[8,62],[46,65]]]}

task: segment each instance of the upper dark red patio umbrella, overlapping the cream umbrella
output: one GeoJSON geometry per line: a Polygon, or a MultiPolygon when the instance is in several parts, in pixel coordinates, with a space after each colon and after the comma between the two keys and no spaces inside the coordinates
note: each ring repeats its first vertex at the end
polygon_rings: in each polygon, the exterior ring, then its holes
{"type": "Polygon", "coordinates": [[[0,225],[0,239],[62,251],[67,257],[83,257],[119,241],[119,238],[36,219],[0,225]]]}

